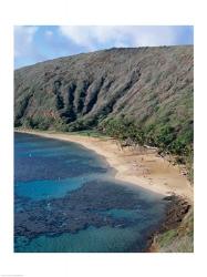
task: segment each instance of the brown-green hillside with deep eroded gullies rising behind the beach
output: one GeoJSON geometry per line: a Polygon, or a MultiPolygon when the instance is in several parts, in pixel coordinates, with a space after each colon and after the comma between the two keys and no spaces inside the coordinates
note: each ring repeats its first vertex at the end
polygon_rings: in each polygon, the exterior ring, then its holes
{"type": "Polygon", "coordinates": [[[81,130],[122,115],[142,126],[193,129],[193,47],[162,47],[111,49],[15,70],[15,126],[81,130]]]}

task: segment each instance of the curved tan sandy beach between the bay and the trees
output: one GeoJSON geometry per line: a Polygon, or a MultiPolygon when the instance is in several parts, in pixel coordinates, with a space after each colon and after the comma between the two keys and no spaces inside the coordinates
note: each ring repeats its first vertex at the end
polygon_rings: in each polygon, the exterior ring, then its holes
{"type": "Polygon", "coordinates": [[[155,150],[121,148],[113,138],[84,136],[71,133],[15,130],[68,142],[79,143],[105,157],[111,167],[116,170],[115,178],[142,186],[164,196],[176,194],[194,201],[194,191],[178,165],[173,165],[155,150]]]}

